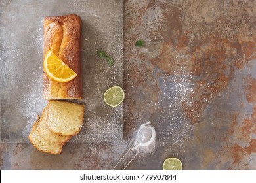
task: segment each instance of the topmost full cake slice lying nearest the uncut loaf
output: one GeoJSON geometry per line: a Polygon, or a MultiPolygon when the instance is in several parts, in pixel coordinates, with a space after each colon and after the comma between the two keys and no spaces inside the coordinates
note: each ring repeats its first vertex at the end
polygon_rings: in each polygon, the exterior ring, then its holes
{"type": "Polygon", "coordinates": [[[47,127],[56,134],[77,135],[83,125],[85,105],[51,100],[48,103],[47,127]]]}

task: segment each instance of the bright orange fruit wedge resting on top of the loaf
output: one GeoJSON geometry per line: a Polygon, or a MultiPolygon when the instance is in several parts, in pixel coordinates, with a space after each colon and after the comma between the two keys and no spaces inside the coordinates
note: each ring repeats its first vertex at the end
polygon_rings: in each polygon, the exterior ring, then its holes
{"type": "Polygon", "coordinates": [[[45,69],[45,73],[47,73],[50,78],[58,82],[69,82],[77,76],[77,73],[70,69],[70,67],[51,50],[49,50],[45,56],[43,69],[45,69]]]}

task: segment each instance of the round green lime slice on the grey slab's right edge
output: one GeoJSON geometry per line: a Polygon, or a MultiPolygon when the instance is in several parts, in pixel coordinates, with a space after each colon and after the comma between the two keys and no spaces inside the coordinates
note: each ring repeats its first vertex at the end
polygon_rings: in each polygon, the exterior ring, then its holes
{"type": "Polygon", "coordinates": [[[125,92],[120,86],[112,86],[103,95],[106,105],[117,107],[125,99],[125,92]]]}

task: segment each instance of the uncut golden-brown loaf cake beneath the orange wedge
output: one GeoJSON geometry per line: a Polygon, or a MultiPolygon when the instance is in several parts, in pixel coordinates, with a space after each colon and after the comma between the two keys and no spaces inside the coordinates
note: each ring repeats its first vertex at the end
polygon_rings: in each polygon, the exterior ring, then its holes
{"type": "Polygon", "coordinates": [[[81,71],[81,18],[75,14],[47,16],[43,22],[43,59],[51,49],[77,73],[70,82],[56,82],[43,73],[45,99],[81,99],[83,97],[81,71]]]}

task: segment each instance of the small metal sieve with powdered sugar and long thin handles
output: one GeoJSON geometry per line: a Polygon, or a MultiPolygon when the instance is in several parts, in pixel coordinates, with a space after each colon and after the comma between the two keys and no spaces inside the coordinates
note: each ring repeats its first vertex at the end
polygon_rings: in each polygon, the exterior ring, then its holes
{"type": "Polygon", "coordinates": [[[131,160],[123,168],[123,170],[126,169],[128,165],[131,163],[131,161],[133,161],[133,159],[135,159],[135,157],[138,156],[138,154],[140,153],[139,151],[140,148],[146,148],[155,141],[156,131],[154,127],[150,126],[149,124],[150,122],[147,122],[140,126],[137,132],[136,140],[133,144],[133,147],[127,150],[127,152],[123,155],[123,157],[116,163],[113,170],[116,169],[117,165],[123,160],[123,158],[125,158],[125,156],[127,156],[127,154],[129,154],[129,152],[135,152],[135,156],[133,156],[133,158],[131,158],[131,160]]]}

